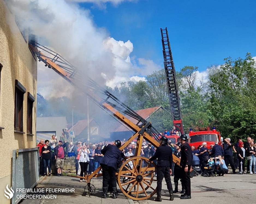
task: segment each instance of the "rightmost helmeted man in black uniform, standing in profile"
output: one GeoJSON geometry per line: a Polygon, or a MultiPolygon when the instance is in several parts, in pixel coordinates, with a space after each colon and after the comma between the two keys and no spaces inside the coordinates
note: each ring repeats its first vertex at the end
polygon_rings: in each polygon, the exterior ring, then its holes
{"type": "Polygon", "coordinates": [[[192,168],[192,149],[187,143],[187,135],[180,136],[181,146],[181,159],[180,165],[182,169],[182,183],[185,187],[185,194],[182,194],[180,199],[191,199],[191,187],[190,187],[190,169],[192,168]]]}

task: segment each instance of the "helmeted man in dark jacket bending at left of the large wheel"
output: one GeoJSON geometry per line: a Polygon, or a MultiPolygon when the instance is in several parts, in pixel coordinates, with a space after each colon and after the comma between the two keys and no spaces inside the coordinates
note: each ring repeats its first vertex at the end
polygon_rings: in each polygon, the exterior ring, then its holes
{"type": "Polygon", "coordinates": [[[100,162],[102,167],[102,190],[103,198],[108,197],[108,184],[112,186],[113,198],[117,198],[117,181],[115,177],[115,172],[117,170],[117,163],[121,161],[121,158],[125,158],[124,154],[120,149],[121,141],[116,140],[115,143],[109,144],[101,150],[101,153],[104,155],[100,162]]]}

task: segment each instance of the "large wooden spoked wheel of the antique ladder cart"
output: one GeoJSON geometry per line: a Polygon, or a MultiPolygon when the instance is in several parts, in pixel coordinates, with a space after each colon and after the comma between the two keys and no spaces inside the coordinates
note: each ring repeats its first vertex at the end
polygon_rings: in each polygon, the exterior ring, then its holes
{"type": "Polygon", "coordinates": [[[135,156],[127,159],[118,172],[118,186],[125,196],[133,200],[145,200],[156,193],[151,186],[156,165],[146,157],[135,156]],[[142,165],[144,164],[145,167],[142,165]],[[148,191],[147,191],[148,190],[148,191]]]}

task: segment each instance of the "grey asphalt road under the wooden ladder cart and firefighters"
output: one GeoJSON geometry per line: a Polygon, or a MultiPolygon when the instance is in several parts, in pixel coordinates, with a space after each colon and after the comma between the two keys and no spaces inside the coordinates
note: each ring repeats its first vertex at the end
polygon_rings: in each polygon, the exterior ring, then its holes
{"type": "MultiPolygon", "coordinates": [[[[171,177],[173,180],[173,177],[171,177]]],[[[22,204],[41,204],[41,203],[86,203],[86,204],[150,204],[156,203],[154,199],[156,194],[148,200],[133,201],[124,194],[119,193],[117,199],[102,199],[102,178],[94,178],[91,183],[96,191],[91,197],[84,191],[86,183],[80,183],[78,178],[73,177],[41,177],[40,183],[36,188],[68,188],[74,189],[72,193],[48,193],[55,194],[56,199],[24,199],[22,204]]],[[[173,181],[172,181],[173,184],[173,181]]],[[[174,184],[173,184],[174,186],[174,184]]],[[[152,187],[156,187],[156,181],[153,181],[152,187]]],[[[169,193],[165,181],[162,185],[162,203],[169,203],[169,193]]],[[[181,190],[181,184],[179,184],[181,190]]],[[[252,204],[256,200],[256,174],[253,175],[234,175],[227,174],[226,177],[194,177],[191,179],[192,199],[181,200],[180,193],[174,194],[174,202],[178,203],[246,203],[252,204]]],[[[39,193],[40,194],[40,193],[39,193]]],[[[42,194],[42,193],[41,193],[42,194]]],[[[44,193],[46,194],[46,193],[44,193]]]]}

